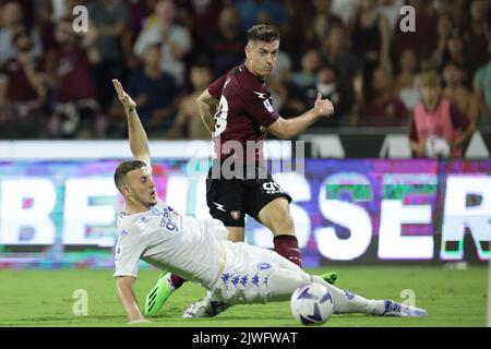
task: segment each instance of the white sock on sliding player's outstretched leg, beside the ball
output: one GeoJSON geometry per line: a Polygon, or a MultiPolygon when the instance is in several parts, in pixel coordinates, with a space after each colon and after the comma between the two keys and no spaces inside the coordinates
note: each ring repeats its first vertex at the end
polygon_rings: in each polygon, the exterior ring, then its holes
{"type": "Polygon", "coordinates": [[[370,315],[381,315],[385,311],[384,301],[373,299],[368,300],[359,294],[338,289],[316,275],[312,276],[312,281],[324,285],[331,291],[331,294],[333,294],[334,298],[335,314],[363,313],[370,315]]]}

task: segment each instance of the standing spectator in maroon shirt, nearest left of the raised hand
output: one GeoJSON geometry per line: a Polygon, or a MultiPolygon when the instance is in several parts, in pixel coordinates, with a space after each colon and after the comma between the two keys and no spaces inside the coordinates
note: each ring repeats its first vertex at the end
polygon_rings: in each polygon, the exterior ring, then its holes
{"type": "MultiPolygon", "coordinates": [[[[48,52],[46,63],[47,81],[55,95],[49,134],[55,137],[104,137],[104,120],[83,44],[68,20],[58,22],[55,37],[58,45],[48,52]]],[[[88,46],[89,43],[85,44],[88,46]]]]}

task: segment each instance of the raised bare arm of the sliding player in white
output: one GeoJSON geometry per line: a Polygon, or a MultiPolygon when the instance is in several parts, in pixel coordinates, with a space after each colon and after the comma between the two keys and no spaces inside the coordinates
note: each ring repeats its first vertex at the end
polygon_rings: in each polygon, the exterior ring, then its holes
{"type": "Polygon", "coordinates": [[[148,151],[148,140],[146,137],[145,129],[143,129],[142,122],[140,121],[139,115],[136,112],[136,104],[128,95],[121,86],[121,83],[117,80],[112,80],[116,92],[118,93],[118,98],[124,107],[124,111],[128,118],[128,136],[130,139],[130,149],[133,154],[135,160],[141,160],[147,166],[152,166],[149,151],[148,151]]]}

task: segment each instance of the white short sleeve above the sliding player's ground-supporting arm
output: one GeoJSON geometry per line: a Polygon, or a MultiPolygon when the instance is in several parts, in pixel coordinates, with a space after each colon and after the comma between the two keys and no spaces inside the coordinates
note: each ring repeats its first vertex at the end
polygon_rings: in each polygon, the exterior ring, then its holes
{"type": "Polygon", "coordinates": [[[131,239],[128,236],[120,237],[116,245],[116,272],[113,276],[132,276],[136,278],[139,274],[139,261],[142,253],[143,249],[135,239],[131,239]]]}

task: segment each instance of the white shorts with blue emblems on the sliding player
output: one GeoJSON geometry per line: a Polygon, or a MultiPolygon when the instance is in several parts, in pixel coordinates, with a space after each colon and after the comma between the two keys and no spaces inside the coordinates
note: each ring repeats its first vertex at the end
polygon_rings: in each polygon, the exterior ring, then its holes
{"type": "Polygon", "coordinates": [[[213,300],[228,304],[266,303],[271,298],[270,277],[275,269],[304,274],[301,268],[274,251],[244,242],[223,241],[225,268],[211,287],[213,300]]]}

